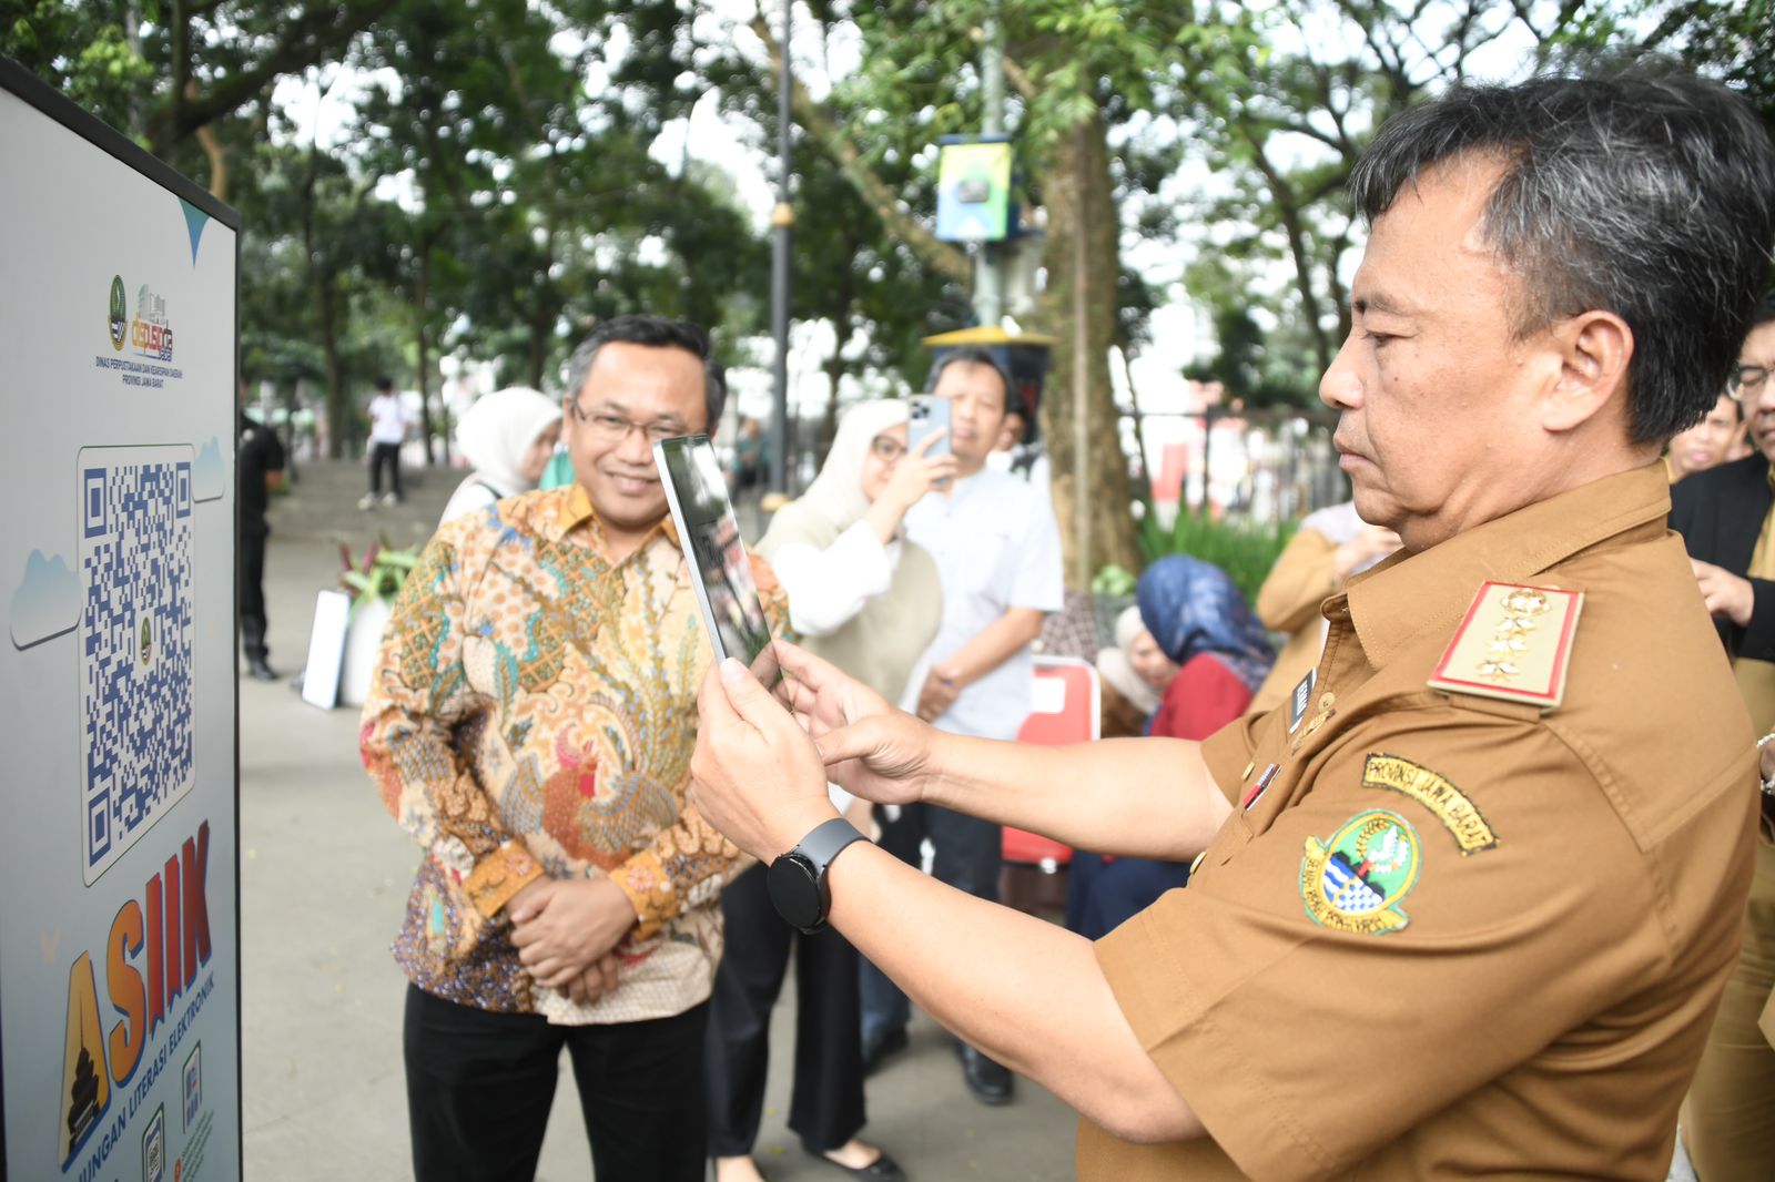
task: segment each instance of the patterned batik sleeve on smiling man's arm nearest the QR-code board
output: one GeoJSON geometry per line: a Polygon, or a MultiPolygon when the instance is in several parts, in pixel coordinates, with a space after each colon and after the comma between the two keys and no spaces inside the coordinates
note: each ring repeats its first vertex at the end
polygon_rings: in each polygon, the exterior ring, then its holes
{"type": "Polygon", "coordinates": [[[382,802],[426,854],[462,879],[492,919],[543,877],[456,749],[472,694],[462,666],[458,548],[440,532],[406,577],[383,630],[378,674],[364,701],[359,751],[382,802]]]}

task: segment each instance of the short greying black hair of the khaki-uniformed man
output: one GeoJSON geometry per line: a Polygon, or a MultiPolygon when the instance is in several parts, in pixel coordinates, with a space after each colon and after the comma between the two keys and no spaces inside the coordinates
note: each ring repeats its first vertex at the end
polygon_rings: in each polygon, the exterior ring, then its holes
{"type": "Polygon", "coordinates": [[[1661,64],[1463,85],[1383,124],[1351,195],[1372,224],[1461,156],[1503,167],[1482,231],[1518,279],[1518,339],[1613,312],[1633,330],[1633,442],[1699,422],[1738,360],[1775,240],[1775,146],[1750,103],[1661,64]]]}

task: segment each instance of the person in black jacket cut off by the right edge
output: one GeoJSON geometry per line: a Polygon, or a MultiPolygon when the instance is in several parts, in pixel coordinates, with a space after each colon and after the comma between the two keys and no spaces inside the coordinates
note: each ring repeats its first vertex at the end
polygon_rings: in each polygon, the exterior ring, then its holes
{"type": "MultiPolygon", "coordinates": [[[[1775,722],[1775,291],[1763,296],[1727,389],[1757,451],[1670,490],[1702,600],[1759,728],[1775,722]]],[[[1672,454],[1676,449],[1672,447],[1672,454]]],[[[1764,738],[1764,753],[1770,740],[1764,738]]],[[[1702,1182],[1775,1171],[1775,795],[1763,781],[1757,864],[1743,944],[1683,1104],[1683,1143],[1702,1182]]]]}

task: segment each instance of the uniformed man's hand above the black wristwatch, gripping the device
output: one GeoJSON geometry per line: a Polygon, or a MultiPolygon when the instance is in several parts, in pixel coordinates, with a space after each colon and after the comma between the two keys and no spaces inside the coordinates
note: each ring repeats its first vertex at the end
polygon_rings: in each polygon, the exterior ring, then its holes
{"type": "Polygon", "coordinates": [[[690,800],[733,845],[770,863],[838,816],[813,740],[746,666],[710,667],[696,710],[690,800]]]}

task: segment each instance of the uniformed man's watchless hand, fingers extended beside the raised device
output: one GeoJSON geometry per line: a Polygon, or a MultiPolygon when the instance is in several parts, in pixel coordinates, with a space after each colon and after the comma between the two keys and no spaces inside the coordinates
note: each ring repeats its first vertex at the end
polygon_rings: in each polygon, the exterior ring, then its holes
{"type": "Polygon", "coordinates": [[[832,664],[783,641],[776,650],[788,674],[777,697],[813,735],[827,779],[877,804],[923,800],[941,735],[832,664]]]}

